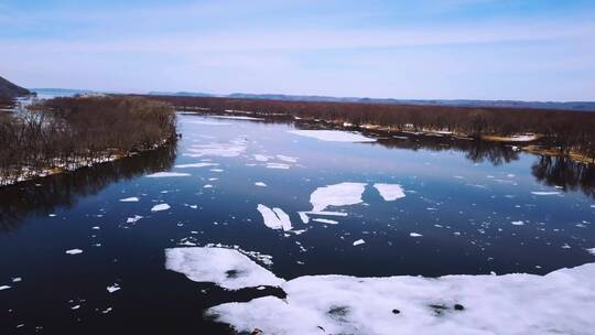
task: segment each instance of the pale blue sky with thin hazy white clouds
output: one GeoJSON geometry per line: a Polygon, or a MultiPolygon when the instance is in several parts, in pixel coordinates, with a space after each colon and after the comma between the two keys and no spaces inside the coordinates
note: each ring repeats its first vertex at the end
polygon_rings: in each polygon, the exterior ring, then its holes
{"type": "Polygon", "coordinates": [[[0,75],[138,93],[595,100],[595,1],[0,0],[0,75]]]}

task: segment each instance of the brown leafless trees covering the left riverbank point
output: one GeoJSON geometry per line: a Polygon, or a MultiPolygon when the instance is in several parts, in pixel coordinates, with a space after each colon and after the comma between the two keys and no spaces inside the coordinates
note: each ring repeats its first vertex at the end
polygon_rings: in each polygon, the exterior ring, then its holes
{"type": "Polygon", "coordinates": [[[55,98],[0,112],[0,185],[74,170],[175,139],[171,105],[140,97],[55,98]]]}

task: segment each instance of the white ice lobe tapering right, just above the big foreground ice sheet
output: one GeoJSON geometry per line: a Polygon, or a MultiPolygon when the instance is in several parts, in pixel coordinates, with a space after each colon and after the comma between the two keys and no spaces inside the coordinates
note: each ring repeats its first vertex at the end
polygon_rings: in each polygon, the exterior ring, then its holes
{"type": "Polygon", "coordinates": [[[165,249],[165,269],[196,282],[213,282],[228,290],[279,287],[283,279],[253,262],[241,252],[225,248],[165,249]]]}

